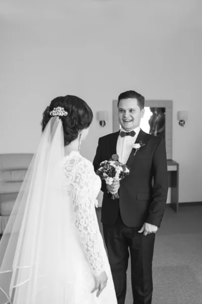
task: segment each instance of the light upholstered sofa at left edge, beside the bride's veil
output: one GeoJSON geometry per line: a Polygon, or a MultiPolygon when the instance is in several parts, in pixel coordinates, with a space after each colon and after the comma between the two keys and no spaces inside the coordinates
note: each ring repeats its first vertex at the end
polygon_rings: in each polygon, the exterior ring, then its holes
{"type": "Polygon", "coordinates": [[[0,154],[0,235],[3,234],[33,154],[0,154]]]}

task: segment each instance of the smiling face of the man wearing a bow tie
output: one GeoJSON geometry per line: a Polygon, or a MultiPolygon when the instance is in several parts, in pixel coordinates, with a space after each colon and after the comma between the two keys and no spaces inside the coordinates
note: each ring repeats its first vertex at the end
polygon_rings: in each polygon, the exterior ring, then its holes
{"type": "Polygon", "coordinates": [[[129,132],[139,126],[144,115],[136,98],[121,99],[118,107],[118,117],[121,127],[129,132]]]}

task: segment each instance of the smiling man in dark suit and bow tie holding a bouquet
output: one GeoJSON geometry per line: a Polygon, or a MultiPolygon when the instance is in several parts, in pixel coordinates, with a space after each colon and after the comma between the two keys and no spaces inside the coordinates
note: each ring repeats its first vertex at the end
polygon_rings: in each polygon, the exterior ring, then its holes
{"type": "MultiPolygon", "coordinates": [[[[99,138],[94,169],[113,154],[131,172],[112,185],[102,181],[102,223],[118,304],[125,303],[129,250],[134,304],[151,304],[155,233],[161,225],[168,193],[165,140],[143,132],[144,97],[127,91],[118,98],[121,130],[99,138]],[[142,143],[139,149],[134,143],[142,143]],[[135,153],[136,151],[136,153],[135,153]],[[135,155],[134,155],[135,154],[135,155]],[[111,194],[119,192],[119,199],[111,194]]],[[[138,145],[139,146],[139,145],[138,145]]]]}

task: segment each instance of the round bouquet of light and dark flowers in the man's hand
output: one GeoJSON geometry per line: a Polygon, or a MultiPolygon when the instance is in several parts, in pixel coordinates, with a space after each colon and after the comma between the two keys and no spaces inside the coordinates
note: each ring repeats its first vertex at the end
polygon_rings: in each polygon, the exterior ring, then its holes
{"type": "MultiPolygon", "coordinates": [[[[113,184],[113,181],[122,180],[126,175],[130,173],[130,169],[119,162],[119,156],[113,154],[109,161],[104,161],[100,163],[100,167],[97,169],[96,174],[99,175],[101,179],[104,179],[107,184],[113,184]]],[[[118,199],[119,194],[112,195],[112,199],[118,199]]]]}

